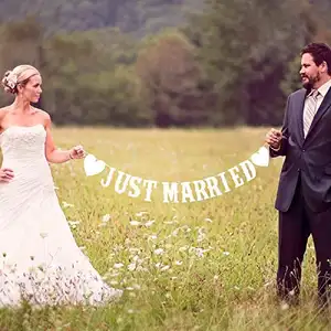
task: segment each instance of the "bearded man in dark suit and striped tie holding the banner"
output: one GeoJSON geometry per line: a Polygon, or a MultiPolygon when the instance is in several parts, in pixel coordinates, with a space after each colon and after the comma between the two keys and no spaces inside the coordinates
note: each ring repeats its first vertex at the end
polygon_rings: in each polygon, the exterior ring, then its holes
{"type": "Polygon", "coordinates": [[[331,49],[311,43],[301,51],[303,88],[290,94],[281,131],[266,135],[270,157],[285,156],[276,199],[279,211],[278,296],[297,302],[301,263],[312,235],[319,302],[331,285],[331,49]]]}

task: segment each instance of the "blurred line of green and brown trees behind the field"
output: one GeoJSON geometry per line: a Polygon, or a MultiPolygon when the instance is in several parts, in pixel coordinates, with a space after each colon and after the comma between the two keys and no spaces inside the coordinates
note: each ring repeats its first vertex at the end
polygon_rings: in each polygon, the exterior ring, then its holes
{"type": "MultiPolygon", "coordinates": [[[[49,33],[33,15],[4,21],[0,70],[39,67],[40,106],[57,125],[281,124],[287,94],[300,87],[301,47],[331,41],[328,1],[203,6],[185,24],[142,38],[116,26],[49,33]]],[[[1,94],[0,104],[9,102],[1,94]]]]}

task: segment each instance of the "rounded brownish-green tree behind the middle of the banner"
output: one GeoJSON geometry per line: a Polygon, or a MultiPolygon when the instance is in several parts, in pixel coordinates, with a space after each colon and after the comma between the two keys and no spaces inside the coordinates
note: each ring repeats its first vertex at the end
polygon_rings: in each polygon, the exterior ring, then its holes
{"type": "Polygon", "coordinates": [[[200,88],[202,72],[195,61],[195,50],[184,35],[170,32],[150,41],[138,55],[137,73],[157,126],[206,121],[200,88]]]}

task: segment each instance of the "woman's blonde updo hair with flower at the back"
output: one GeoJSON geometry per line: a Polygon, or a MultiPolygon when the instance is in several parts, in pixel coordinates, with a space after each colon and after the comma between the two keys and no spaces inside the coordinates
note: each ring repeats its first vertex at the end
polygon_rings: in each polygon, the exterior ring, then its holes
{"type": "Polygon", "coordinates": [[[17,94],[18,85],[26,85],[34,75],[40,75],[40,72],[34,66],[29,64],[18,65],[12,71],[6,72],[2,86],[6,92],[17,94]]]}

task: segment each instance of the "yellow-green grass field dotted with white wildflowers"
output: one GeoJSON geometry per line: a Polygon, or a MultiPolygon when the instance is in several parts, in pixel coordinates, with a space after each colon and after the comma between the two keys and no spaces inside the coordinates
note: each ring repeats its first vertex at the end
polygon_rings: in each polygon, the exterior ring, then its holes
{"type": "MultiPolygon", "coordinates": [[[[58,147],[82,143],[109,166],[159,182],[215,175],[247,160],[268,129],[55,129],[58,147]]],[[[108,284],[125,290],[104,308],[0,312],[0,330],[330,330],[316,310],[314,250],[309,241],[302,301],[275,298],[277,211],[282,159],[214,199],[151,202],[114,185],[107,171],[85,177],[83,160],[52,166],[60,203],[78,246],[108,284]],[[135,222],[136,221],[136,222],[135,222]]]]}

